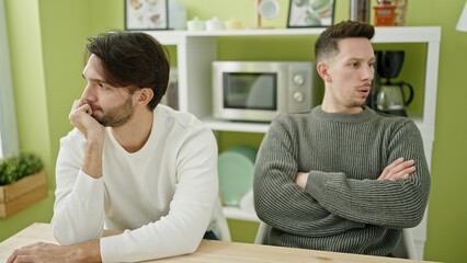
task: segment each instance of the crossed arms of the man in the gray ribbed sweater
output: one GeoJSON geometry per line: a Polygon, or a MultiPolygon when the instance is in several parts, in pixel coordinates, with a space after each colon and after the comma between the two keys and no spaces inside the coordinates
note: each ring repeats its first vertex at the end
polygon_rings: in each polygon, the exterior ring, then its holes
{"type": "MultiPolygon", "coordinates": [[[[283,119],[272,124],[257,159],[254,202],[261,220],[282,231],[309,237],[337,235],[365,224],[408,228],[420,222],[430,175],[413,123],[397,130],[400,134],[390,142],[386,168],[378,175],[361,174],[367,178],[363,180],[332,170],[300,171],[304,160],[300,163],[298,159],[304,155],[296,150],[293,125],[287,125],[283,119]],[[407,142],[407,137],[414,141],[407,142]]],[[[321,152],[329,153],[327,149],[321,152]]],[[[355,160],[358,158],[363,157],[355,160]]],[[[363,168],[357,171],[365,173],[363,168]]]]}

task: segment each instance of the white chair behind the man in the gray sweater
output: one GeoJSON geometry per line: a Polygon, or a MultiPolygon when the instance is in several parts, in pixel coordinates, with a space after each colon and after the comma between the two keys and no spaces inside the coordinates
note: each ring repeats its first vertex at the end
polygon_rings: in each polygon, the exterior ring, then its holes
{"type": "MultiPolygon", "coordinates": [[[[271,229],[271,226],[266,225],[263,221],[260,221],[260,227],[258,228],[257,237],[254,238],[255,244],[266,243],[267,232],[271,229]]],[[[409,260],[418,260],[415,244],[413,242],[413,235],[411,229],[402,230],[402,240],[399,242],[395,250],[395,256],[409,260]]]]}

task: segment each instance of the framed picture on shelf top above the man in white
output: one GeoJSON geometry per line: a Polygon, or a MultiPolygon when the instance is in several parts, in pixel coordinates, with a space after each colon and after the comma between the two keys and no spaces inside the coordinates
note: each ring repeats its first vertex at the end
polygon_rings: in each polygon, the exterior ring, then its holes
{"type": "Polygon", "coordinates": [[[168,30],[167,0],[125,0],[126,30],[168,30]]]}

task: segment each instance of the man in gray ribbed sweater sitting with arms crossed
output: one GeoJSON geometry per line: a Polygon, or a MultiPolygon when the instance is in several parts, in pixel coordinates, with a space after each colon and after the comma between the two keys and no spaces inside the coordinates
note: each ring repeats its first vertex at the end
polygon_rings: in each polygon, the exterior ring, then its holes
{"type": "Polygon", "coordinates": [[[365,106],[374,77],[372,25],[328,27],[315,44],[322,104],[276,117],[254,173],[269,244],[390,255],[423,218],[430,173],[417,126],[365,106]]]}

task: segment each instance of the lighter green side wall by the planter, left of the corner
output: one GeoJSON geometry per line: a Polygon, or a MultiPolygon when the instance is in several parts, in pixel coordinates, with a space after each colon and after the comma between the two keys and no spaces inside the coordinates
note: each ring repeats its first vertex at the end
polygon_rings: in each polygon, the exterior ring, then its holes
{"type": "Polygon", "coordinates": [[[20,149],[43,157],[49,195],[9,219],[0,219],[0,240],[34,221],[49,221],[55,185],[38,3],[33,0],[5,1],[5,13],[20,149]]]}

